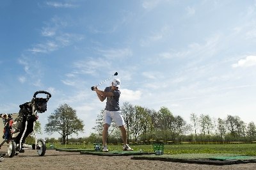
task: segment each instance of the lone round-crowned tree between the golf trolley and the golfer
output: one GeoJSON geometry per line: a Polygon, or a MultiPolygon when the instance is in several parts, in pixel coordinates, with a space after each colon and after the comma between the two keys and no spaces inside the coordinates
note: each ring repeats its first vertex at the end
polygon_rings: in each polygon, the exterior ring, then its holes
{"type": "Polygon", "coordinates": [[[76,110],[67,104],[60,105],[49,117],[45,125],[45,132],[52,134],[58,132],[63,138],[63,143],[68,143],[68,135],[83,132],[83,121],[77,118],[76,110]]]}

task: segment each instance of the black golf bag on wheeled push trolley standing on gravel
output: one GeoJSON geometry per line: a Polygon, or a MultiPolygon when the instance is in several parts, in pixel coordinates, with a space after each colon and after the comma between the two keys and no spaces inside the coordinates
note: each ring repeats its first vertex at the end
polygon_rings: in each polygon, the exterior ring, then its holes
{"type": "Polygon", "coordinates": [[[8,144],[7,154],[9,157],[24,153],[24,150],[37,150],[38,155],[44,156],[46,151],[45,142],[36,139],[35,123],[38,119],[37,113],[45,112],[47,110],[47,102],[51,98],[51,94],[47,91],[36,91],[31,102],[26,102],[20,105],[19,115],[13,121],[12,114],[1,115],[4,121],[4,143],[8,144]],[[46,98],[38,98],[36,95],[43,93],[47,95],[46,98]],[[35,137],[35,144],[25,144],[26,137],[33,135],[35,137]]]}

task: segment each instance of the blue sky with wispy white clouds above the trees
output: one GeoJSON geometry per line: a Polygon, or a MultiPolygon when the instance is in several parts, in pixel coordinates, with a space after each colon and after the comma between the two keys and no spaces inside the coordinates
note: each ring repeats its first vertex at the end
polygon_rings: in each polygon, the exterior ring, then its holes
{"type": "Polygon", "coordinates": [[[0,22],[0,113],[49,91],[43,130],[68,104],[85,125],[73,137],[93,132],[105,102],[90,88],[115,72],[120,105],[256,121],[256,1],[3,0],[0,22]]]}

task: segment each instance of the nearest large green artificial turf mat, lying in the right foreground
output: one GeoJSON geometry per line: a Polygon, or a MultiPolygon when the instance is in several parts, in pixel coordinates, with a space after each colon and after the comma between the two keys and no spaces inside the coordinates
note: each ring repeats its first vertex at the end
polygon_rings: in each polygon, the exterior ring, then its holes
{"type": "Polygon", "coordinates": [[[256,163],[256,157],[235,155],[228,153],[187,153],[187,154],[163,154],[163,155],[140,155],[132,157],[134,160],[161,160],[167,162],[182,162],[190,164],[209,164],[216,166],[231,164],[256,163]]]}

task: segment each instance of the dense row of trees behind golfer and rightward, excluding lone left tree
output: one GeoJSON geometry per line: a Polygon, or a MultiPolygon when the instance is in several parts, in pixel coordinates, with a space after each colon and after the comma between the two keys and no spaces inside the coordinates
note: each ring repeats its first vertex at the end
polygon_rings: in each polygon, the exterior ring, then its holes
{"type": "MultiPolygon", "coordinates": [[[[232,142],[256,141],[256,125],[253,121],[246,124],[239,116],[227,115],[227,118],[212,118],[209,114],[189,115],[189,122],[182,116],[175,116],[167,107],[159,111],[131,105],[125,102],[121,107],[127,126],[129,142],[161,140],[179,143],[188,142],[232,142]]],[[[102,132],[102,113],[98,115],[95,131],[99,136],[102,132]]],[[[110,142],[121,141],[116,139],[118,130],[113,126],[110,130],[110,142]]]]}

